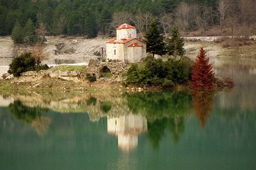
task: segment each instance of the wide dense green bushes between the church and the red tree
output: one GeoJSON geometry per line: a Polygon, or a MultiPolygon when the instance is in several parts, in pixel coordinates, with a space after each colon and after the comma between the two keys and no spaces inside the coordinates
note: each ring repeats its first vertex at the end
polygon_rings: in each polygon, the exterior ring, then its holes
{"type": "Polygon", "coordinates": [[[145,64],[141,64],[140,67],[132,64],[127,72],[127,83],[172,87],[177,83],[186,83],[191,79],[192,64],[186,58],[180,60],[169,59],[163,62],[161,59],[148,56],[144,62],[145,64]]]}

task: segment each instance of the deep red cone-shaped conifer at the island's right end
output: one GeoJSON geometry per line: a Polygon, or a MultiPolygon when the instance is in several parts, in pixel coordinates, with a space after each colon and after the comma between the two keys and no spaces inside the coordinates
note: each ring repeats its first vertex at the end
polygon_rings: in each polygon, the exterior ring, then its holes
{"type": "Polygon", "coordinates": [[[212,90],[213,79],[212,64],[209,63],[209,57],[206,56],[204,49],[200,48],[193,66],[191,85],[194,89],[212,90]]]}

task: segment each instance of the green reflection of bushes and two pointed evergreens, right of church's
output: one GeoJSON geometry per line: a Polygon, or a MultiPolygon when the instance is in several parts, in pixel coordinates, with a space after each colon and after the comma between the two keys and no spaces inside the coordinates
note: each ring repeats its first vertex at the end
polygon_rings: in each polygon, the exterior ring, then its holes
{"type": "Polygon", "coordinates": [[[174,143],[179,142],[180,134],[184,132],[184,118],[191,108],[189,92],[138,93],[126,97],[133,113],[147,117],[147,136],[154,148],[157,148],[166,130],[171,132],[174,143]]]}

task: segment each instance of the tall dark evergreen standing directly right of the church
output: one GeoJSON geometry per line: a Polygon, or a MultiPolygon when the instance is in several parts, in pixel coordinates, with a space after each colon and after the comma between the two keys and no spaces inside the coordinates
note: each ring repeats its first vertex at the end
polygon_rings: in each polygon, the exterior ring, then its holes
{"type": "Polygon", "coordinates": [[[158,22],[154,21],[150,24],[145,38],[147,43],[147,52],[152,53],[153,57],[155,54],[164,55],[166,53],[163,42],[164,36],[159,31],[158,22]]]}

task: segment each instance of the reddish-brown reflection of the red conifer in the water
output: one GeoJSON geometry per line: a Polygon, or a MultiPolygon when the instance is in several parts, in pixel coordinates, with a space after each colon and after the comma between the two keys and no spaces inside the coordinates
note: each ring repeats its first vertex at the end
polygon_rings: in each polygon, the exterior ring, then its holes
{"type": "Polygon", "coordinates": [[[193,108],[195,110],[196,117],[201,124],[201,127],[205,127],[206,119],[210,117],[212,106],[214,105],[214,94],[210,90],[205,91],[192,91],[193,108]]]}

